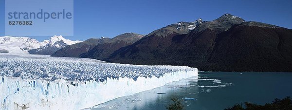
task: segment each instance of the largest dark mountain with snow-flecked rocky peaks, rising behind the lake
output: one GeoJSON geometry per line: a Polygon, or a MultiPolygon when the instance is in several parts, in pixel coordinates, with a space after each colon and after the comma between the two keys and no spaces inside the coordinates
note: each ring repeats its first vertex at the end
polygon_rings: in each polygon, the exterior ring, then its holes
{"type": "Polygon", "coordinates": [[[201,71],[292,72],[291,48],[291,29],[225,14],[213,21],[168,25],[118,49],[106,61],[201,71]]]}

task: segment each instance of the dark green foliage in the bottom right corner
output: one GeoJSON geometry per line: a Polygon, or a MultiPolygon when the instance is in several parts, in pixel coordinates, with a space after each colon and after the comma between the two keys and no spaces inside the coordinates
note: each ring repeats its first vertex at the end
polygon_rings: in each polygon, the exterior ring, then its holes
{"type": "Polygon", "coordinates": [[[236,104],[224,110],[292,110],[292,100],[291,97],[275,99],[272,104],[267,103],[263,106],[245,102],[244,106],[245,108],[243,108],[242,105],[236,104]]]}

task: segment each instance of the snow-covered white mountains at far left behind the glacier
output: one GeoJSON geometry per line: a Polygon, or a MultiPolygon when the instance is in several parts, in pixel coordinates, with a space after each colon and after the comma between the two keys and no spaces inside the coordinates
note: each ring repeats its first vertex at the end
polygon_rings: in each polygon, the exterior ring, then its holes
{"type": "Polygon", "coordinates": [[[51,37],[39,42],[30,37],[0,37],[0,52],[11,54],[44,54],[51,55],[56,50],[80,41],[71,41],[62,36],[51,37]]]}

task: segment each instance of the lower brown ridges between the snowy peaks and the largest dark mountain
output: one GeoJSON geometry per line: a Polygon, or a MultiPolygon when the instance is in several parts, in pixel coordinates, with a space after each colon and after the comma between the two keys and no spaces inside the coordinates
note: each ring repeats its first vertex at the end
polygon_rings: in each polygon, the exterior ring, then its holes
{"type": "Polygon", "coordinates": [[[51,56],[85,57],[104,60],[114,51],[133,44],[140,40],[143,35],[125,33],[113,38],[91,38],[80,43],[66,46],[56,51],[51,56]]]}

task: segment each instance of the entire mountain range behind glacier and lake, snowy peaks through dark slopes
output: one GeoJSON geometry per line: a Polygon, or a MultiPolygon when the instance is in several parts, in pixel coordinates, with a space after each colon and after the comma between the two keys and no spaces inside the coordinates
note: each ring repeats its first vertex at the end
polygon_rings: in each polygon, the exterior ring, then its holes
{"type": "MultiPolygon", "coordinates": [[[[1,47],[6,45],[2,39],[1,47]]],[[[54,39],[50,43],[22,38],[18,48],[30,54],[85,57],[123,64],[182,65],[201,71],[292,72],[291,29],[245,21],[231,14],[212,21],[199,18],[194,22],[170,24],[145,36],[125,33],[73,43],[54,39]]],[[[0,52],[11,52],[1,47],[0,52]]]]}

